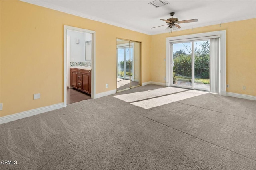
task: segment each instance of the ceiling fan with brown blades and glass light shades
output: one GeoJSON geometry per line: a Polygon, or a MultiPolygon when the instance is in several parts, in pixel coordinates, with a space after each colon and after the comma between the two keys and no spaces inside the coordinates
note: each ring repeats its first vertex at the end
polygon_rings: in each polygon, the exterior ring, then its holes
{"type": "MultiPolygon", "coordinates": [[[[173,16],[175,14],[175,12],[171,12],[170,15],[173,16]]],[[[189,23],[189,22],[197,22],[198,19],[190,19],[190,20],[183,20],[183,21],[179,21],[178,18],[169,18],[167,20],[164,20],[164,19],[160,19],[162,21],[165,21],[168,25],[168,27],[166,28],[166,31],[168,32],[172,32],[172,30],[177,30],[180,27],[180,25],[178,25],[177,23],[189,23]]],[[[161,25],[161,26],[158,26],[158,27],[162,27],[164,25],[161,25]]],[[[153,28],[156,28],[156,27],[153,27],[153,28]]]]}

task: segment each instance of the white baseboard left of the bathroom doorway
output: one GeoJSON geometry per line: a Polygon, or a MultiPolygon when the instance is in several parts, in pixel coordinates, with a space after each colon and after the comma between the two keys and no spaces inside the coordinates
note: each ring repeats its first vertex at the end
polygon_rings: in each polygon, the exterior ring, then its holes
{"type": "Polygon", "coordinates": [[[60,109],[62,107],[64,107],[64,103],[53,104],[53,105],[50,105],[50,106],[40,107],[40,108],[37,108],[37,109],[32,109],[32,110],[23,111],[23,112],[8,115],[8,116],[3,116],[3,117],[0,117],[0,124],[7,123],[7,122],[10,122],[10,121],[15,121],[15,120],[22,119],[22,118],[25,118],[25,117],[38,115],[40,113],[45,113],[47,111],[60,109]]]}

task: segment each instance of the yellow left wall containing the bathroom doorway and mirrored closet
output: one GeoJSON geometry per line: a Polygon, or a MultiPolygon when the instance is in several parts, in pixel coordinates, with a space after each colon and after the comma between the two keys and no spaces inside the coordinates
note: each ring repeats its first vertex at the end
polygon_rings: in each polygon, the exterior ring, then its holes
{"type": "Polygon", "coordinates": [[[142,42],[142,82],[150,81],[150,35],[1,0],[0,117],[64,102],[64,25],[96,31],[96,94],[116,89],[116,38],[142,42]]]}

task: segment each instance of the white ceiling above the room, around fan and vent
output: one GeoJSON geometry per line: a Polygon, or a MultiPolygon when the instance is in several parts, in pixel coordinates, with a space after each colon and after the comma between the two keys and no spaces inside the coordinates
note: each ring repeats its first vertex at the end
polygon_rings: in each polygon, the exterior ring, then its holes
{"type": "Polygon", "coordinates": [[[155,8],[153,0],[22,0],[31,4],[116,25],[149,35],[164,33],[170,12],[181,20],[197,18],[195,23],[179,24],[184,29],[256,18],[256,0],[167,0],[155,8]]]}

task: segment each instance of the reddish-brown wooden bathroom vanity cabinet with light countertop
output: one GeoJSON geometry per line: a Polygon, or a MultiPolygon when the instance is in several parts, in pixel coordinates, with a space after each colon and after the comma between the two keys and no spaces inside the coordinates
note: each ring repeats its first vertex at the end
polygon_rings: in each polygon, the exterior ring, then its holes
{"type": "Polygon", "coordinates": [[[70,86],[91,94],[91,67],[70,67],[70,86]]]}

